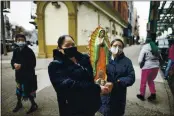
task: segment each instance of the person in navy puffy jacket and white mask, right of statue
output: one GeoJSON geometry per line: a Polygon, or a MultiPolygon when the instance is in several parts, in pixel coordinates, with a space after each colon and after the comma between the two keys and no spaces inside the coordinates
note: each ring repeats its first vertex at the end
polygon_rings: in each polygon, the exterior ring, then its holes
{"type": "Polygon", "coordinates": [[[106,67],[107,81],[113,83],[112,91],[101,96],[99,112],[104,116],[123,116],[127,87],[135,82],[132,62],[123,53],[124,43],[120,39],[111,42],[111,55],[106,67]]]}

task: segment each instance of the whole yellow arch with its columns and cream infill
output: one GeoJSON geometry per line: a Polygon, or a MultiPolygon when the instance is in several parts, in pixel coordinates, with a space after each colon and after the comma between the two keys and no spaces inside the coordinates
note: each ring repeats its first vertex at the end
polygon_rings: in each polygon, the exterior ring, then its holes
{"type": "Polygon", "coordinates": [[[60,35],[70,34],[77,43],[76,5],[70,1],[56,3],[60,8],[55,8],[53,2],[37,2],[39,58],[52,57],[60,35]]]}

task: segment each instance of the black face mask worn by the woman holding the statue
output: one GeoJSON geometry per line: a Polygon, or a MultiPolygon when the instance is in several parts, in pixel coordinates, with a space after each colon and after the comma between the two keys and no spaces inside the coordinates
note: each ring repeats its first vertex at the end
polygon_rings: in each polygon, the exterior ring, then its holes
{"type": "Polygon", "coordinates": [[[65,48],[63,50],[64,50],[65,55],[69,58],[74,57],[75,54],[77,53],[77,47],[65,48]]]}

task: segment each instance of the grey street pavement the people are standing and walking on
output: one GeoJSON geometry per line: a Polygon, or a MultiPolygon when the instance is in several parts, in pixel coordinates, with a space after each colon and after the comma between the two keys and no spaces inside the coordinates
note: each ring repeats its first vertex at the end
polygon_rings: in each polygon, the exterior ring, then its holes
{"type": "MultiPolygon", "coordinates": [[[[173,97],[171,91],[163,80],[163,74],[159,71],[157,78],[155,79],[155,86],[157,90],[157,100],[155,102],[140,101],[136,98],[136,94],[139,93],[141,70],[138,66],[137,59],[140,52],[140,45],[129,46],[124,49],[124,53],[132,60],[134,70],[136,73],[136,81],[133,86],[128,87],[127,90],[127,105],[125,116],[172,116],[173,114],[173,97]]],[[[37,46],[31,47],[38,54],[37,46]]],[[[30,102],[23,102],[24,108],[17,113],[12,113],[13,108],[16,105],[15,96],[15,76],[14,71],[10,66],[10,59],[12,53],[8,53],[8,56],[1,56],[1,113],[2,116],[25,116],[26,111],[30,108],[30,102]]],[[[38,80],[38,90],[36,102],[39,109],[29,114],[29,116],[59,116],[58,103],[56,93],[50,83],[48,77],[47,67],[52,61],[49,59],[37,59],[36,74],[38,80]]],[[[146,88],[146,98],[150,95],[149,88],[146,88]]],[[[96,116],[102,116],[96,113],[96,116]]]]}

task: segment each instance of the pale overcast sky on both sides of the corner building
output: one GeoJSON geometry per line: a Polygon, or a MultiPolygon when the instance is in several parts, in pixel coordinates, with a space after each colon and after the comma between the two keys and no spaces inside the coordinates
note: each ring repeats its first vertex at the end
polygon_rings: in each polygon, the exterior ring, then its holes
{"type": "MultiPolygon", "coordinates": [[[[11,1],[11,13],[8,14],[12,23],[23,26],[27,30],[34,29],[34,26],[29,23],[31,16],[31,1],[11,1]]],[[[149,15],[149,1],[135,1],[134,7],[137,8],[137,13],[140,16],[140,36],[146,37],[146,24],[149,15]]]]}

